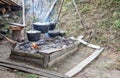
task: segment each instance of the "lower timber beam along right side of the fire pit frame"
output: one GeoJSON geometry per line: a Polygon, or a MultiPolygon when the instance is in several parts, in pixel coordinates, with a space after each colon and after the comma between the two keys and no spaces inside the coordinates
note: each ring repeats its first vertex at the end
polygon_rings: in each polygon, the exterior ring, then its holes
{"type": "Polygon", "coordinates": [[[57,62],[65,59],[67,56],[69,56],[70,54],[74,53],[77,49],[78,49],[78,47],[75,47],[74,49],[69,50],[67,53],[59,56],[58,58],[54,59],[53,61],[50,61],[49,64],[48,64],[48,66],[50,67],[50,66],[52,66],[53,64],[55,64],[55,63],[57,63],[57,62]]]}

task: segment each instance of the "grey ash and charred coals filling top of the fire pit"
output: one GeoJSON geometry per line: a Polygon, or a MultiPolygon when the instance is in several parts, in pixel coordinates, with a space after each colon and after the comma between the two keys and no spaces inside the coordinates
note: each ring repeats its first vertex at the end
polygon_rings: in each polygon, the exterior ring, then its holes
{"type": "Polygon", "coordinates": [[[57,37],[54,39],[41,39],[37,42],[34,42],[38,46],[37,49],[32,48],[32,43],[33,42],[24,42],[18,47],[24,52],[39,53],[39,50],[66,48],[73,45],[75,41],[65,37],[57,37]]]}

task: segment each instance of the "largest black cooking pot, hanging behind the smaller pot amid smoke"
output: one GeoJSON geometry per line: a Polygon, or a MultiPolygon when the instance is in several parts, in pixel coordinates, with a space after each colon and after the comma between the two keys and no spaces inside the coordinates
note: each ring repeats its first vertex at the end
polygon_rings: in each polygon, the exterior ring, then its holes
{"type": "Polygon", "coordinates": [[[33,23],[33,28],[35,30],[41,31],[41,33],[47,33],[48,30],[54,30],[55,26],[56,26],[56,23],[54,22],[33,23]]]}

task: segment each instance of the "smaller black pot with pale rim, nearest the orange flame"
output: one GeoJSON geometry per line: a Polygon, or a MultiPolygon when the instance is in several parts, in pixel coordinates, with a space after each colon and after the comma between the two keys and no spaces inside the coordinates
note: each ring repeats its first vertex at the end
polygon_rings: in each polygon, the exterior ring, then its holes
{"type": "Polygon", "coordinates": [[[37,30],[27,31],[27,38],[31,42],[36,42],[40,40],[41,32],[37,30]]]}

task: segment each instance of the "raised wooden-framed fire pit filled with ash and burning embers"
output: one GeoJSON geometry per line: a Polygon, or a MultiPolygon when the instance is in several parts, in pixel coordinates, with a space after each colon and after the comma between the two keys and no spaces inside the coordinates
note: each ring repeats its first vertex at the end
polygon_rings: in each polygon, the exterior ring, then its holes
{"type": "Polygon", "coordinates": [[[11,50],[10,58],[41,67],[48,67],[75,52],[77,46],[77,42],[70,38],[56,37],[49,40],[42,38],[37,42],[17,44],[11,50]]]}

